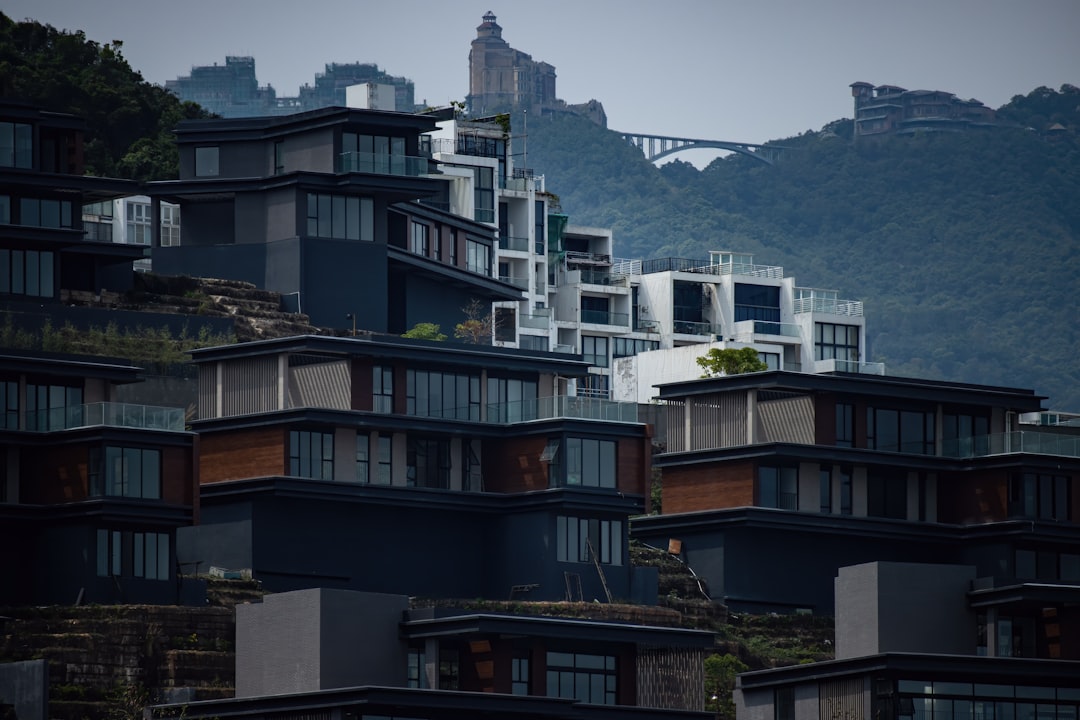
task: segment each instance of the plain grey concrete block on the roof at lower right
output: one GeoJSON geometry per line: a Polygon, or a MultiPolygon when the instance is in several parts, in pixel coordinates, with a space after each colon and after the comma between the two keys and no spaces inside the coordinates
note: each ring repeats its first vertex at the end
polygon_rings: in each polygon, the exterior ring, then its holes
{"type": "Polygon", "coordinates": [[[975,652],[970,566],[867,562],[836,579],[836,657],[975,652]]]}

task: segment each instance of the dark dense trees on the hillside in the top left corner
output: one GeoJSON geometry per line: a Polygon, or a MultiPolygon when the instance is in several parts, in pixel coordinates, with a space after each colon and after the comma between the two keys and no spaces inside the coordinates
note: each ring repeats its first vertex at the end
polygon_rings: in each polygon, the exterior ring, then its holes
{"type": "Polygon", "coordinates": [[[172,130],[207,113],[143,80],[120,52],[82,32],[0,13],[0,96],[86,121],[86,172],[165,180],[178,176],[172,130]]]}

